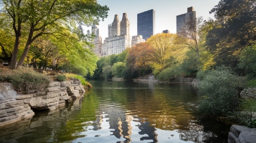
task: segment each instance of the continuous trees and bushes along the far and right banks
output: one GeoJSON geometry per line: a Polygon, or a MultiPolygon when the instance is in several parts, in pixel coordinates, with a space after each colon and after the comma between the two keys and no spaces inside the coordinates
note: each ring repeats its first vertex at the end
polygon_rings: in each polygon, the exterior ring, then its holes
{"type": "Polygon", "coordinates": [[[239,93],[256,87],[255,6],[253,0],[221,0],[210,11],[216,19],[189,18],[179,34],[156,34],[121,54],[100,58],[90,78],[198,78],[199,116],[253,127],[256,121],[240,111],[256,111],[256,101],[241,100],[239,93]]]}

